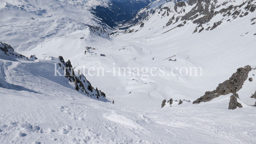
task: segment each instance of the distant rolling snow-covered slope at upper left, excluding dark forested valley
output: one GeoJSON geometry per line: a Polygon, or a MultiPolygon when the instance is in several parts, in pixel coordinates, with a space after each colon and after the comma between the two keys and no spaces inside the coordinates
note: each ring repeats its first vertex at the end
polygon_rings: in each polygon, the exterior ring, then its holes
{"type": "Polygon", "coordinates": [[[76,7],[61,1],[0,2],[0,39],[15,51],[30,50],[43,41],[76,30],[89,29],[91,35],[105,37],[108,37],[107,31],[112,31],[91,14],[90,7],[76,7]]]}

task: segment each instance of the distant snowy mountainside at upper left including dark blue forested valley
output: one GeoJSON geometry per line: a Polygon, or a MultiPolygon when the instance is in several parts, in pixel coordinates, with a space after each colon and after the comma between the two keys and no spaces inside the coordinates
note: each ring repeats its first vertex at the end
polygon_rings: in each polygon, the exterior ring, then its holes
{"type": "Polygon", "coordinates": [[[76,30],[88,29],[92,35],[108,38],[116,22],[131,17],[150,1],[1,0],[0,3],[0,38],[16,51],[23,51],[76,30]]]}

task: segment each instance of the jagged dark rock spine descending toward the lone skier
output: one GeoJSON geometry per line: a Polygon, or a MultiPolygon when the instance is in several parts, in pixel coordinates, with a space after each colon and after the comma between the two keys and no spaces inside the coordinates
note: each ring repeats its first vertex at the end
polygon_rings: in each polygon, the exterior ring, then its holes
{"type": "Polygon", "coordinates": [[[88,97],[89,95],[91,97],[92,95],[97,95],[98,99],[100,96],[106,97],[105,93],[101,92],[101,90],[99,94],[98,88],[96,88],[95,90],[92,87],[91,83],[85,78],[85,76],[82,73],[79,73],[78,76],[75,75],[71,62],[69,60],[65,62],[62,56],[59,56],[59,60],[61,62],[59,63],[59,66],[62,67],[62,69],[65,71],[64,76],[68,78],[70,82],[74,82],[75,89],[77,91],[86,94],[88,97]]]}

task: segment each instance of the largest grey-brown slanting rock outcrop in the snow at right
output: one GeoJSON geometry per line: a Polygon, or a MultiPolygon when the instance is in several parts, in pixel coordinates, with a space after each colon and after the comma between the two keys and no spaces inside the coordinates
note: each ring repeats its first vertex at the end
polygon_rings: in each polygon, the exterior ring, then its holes
{"type": "Polygon", "coordinates": [[[216,90],[205,92],[205,95],[193,101],[193,104],[207,102],[219,97],[220,95],[237,92],[242,88],[242,85],[244,81],[248,78],[248,73],[251,70],[252,68],[249,65],[243,68],[238,68],[237,72],[234,73],[228,80],[220,83],[216,90]]]}

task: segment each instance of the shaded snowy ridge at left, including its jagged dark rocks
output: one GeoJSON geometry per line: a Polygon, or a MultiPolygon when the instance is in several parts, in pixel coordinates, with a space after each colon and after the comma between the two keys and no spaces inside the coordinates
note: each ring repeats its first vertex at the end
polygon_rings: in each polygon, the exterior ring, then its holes
{"type": "MultiPolygon", "coordinates": [[[[31,55],[30,58],[27,58],[13,51],[13,48],[10,45],[5,43],[3,44],[2,42],[0,42],[0,49],[2,50],[1,67],[3,68],[1,71],[0,83],[2,88],[35,92],[34,90],[31,90],[31,87],[22,87],[22,85],[20,85],[20,81],[26,83],[26,81],[30,81],[32,77],[34,82],[41,81],[38,80],[38,78],[40,77],[39,79],[45,78],[46,81],[50,80],[51,83],[60,84],[69,89],[73,87],[73,89],[79,91],[84,95],[87,95],[88,97],[94,99],[97,98],[101,101],[106,101],[106,99],[104,98],[105,94],[100,90],[98,91],[98,88],[94,89],[91,83],[84,77],[83,74],[76,74],[73,71],[72,63],[69,60],[68,62],[65,62],[62,56],[59,56],[58,58],[49,56],[44,60],[39,60],[33,55],[31,55]],[[55,67],[52,67],[52,65],[55,65],[55,67]],[[8,69],[9,67],[12,68],[8,69]],[[56,70],[53,70],[54,68],[56,70]],[[17,69],[21,72],[16,73],[15,71],[17,69]],[[17,75],[22,76],[22,79],[16,81],[16,78],[18,77],[17,75]],[[26,78],[25,75],[29,75],[30,78],[26,78]],[[15,85],[12,83],[18,83],[19,85],[15,85]],[[103,98],[101,98],[100,96],[102,96],[103,98]]],[[[27,85],[25,84],[25,86],[27,85]]],[[[43,92],[42,90],[39,91],[43,92]]],[[[37,90],[36,93],[38,93],[39,91],[37,90]]]]}

